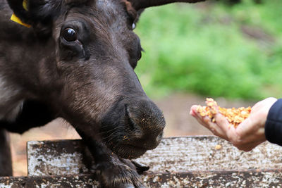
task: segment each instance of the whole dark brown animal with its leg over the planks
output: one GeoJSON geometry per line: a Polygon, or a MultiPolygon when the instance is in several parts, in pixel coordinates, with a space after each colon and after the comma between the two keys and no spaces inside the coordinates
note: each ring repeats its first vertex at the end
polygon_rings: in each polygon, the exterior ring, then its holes
{"type": "MultiPolygon", "coordinates": [[[[23,133],[64,118],[103,187],[142,187],[123,158],[154,149],[165,121],[134,73],[142,48],[133,29],[142,9],[176,1],[0,0],[0,128],[23,133]]],[[[11,175],[11,165],[0,169],[11,175]]]]}

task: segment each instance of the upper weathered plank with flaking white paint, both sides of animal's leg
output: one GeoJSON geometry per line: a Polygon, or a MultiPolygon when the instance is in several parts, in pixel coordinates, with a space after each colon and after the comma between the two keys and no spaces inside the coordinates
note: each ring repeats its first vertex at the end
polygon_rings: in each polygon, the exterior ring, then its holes
{"type": "MultiPolygon", "coordinates": [[[[28,142],[29,175],[89,173],[82,163],[81,140],[28,142]]],[[[198,170],[282,169],[282,147],[265,142],[250,152],[236,149],[219,137],[171,137],[135,161],[150,173],[198,170]]]]}

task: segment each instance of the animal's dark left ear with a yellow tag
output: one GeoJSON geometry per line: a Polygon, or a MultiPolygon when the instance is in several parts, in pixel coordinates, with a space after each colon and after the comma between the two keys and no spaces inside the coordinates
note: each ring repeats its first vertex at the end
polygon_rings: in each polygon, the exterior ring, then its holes
{"type": "Polygon", "coordinates": [[[62,0],[7,0],[13,13],[23,23],[32,25],[39,35],[51,32],[51,23],[61,8],[62,0]]]}

